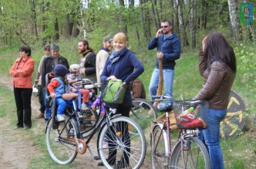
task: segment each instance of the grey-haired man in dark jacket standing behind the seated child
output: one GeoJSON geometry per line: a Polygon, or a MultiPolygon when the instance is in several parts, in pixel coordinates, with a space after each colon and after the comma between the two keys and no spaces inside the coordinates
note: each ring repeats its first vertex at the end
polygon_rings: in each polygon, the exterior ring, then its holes
{"type": "Polygon", "coordinates": [[[45,89],[45,121],[48,121],[51,117],[51,110],[47,106],[46,96],[47,96],[47,88],[45,88],[45,75],[52,72],[56,65],[64,65],[69,70],[69,62],[62,55],[59,55],[59,46],[56,44],[52,44],[50,47],[51,55],[46,57],[44,61],[42,61],[42,88],[45,89]]]}

